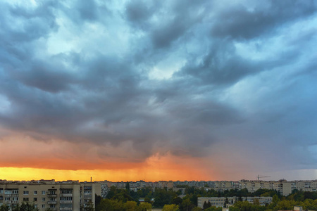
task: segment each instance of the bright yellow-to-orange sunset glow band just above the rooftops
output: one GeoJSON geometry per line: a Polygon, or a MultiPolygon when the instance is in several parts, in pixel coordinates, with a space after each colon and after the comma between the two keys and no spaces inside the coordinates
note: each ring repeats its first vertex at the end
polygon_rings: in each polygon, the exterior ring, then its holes
{"type": "Polygon", "coordinates": [[[176,164],[171,156],[159,157],[154,155],[146,162],[139,164],[140,167],[130,168],[129,163],[119,166],[123,169],[108,170],[49,170],[30,167],[1,167],[0,178],[7,180],[39,180],[56,179],[56,181],[79,180],[89,181],[90,177],[94,181],[146,181],[159,180],[197,180],[209,179],[210,175],[201,172],[194,167],[192,160],[187,160],[184,164],[176,164]]]}

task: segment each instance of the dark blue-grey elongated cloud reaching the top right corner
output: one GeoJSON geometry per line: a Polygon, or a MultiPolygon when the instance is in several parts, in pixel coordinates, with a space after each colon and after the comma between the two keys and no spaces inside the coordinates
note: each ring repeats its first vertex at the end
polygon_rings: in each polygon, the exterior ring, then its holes
{"type": "Polygon", "coordinates": [[[316,12],[314,1],[266,1],[256,6],[228,6],[216,15],[211,34],[232,39],[254,39],[316,12]]]}

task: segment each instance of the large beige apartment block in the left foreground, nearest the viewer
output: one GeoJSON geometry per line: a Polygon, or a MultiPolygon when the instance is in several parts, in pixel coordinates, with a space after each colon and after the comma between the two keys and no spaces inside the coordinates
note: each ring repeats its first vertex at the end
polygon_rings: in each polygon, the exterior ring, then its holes
{"type": "Polygon", "coordinates": [[[80,210],[95,193],[101,195],[98,183],[79,181],[0,181],[0,205],[11,207],[23,202],[32,203],[39,210],[80,210]]]}

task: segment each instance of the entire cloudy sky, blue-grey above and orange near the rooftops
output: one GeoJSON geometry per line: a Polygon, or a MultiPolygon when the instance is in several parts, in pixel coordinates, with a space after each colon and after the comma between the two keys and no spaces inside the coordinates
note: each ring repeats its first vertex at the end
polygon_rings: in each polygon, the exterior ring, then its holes
{"type": "Polygon", "coordinates": [[[317,1],[0,8],[0,179],[317,178],[317,1]]]}

